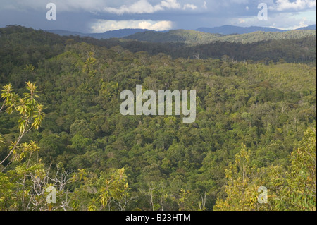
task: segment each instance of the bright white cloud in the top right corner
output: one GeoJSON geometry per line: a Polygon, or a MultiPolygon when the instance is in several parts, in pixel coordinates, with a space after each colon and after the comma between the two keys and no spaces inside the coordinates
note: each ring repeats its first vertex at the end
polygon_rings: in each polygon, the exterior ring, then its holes
{"type": "Polygon", "coordinates": [[[316,8],[316,0],[277,0],[274,6],[269,7],[274,11],[285,11],[285,10],[303,10],[306,8],[316,8]]]}

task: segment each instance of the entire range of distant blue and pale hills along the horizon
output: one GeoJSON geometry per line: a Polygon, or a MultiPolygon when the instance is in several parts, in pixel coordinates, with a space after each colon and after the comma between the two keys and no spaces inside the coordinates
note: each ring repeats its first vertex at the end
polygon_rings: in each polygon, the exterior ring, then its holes
{"type": "MultiPolygon", "coordinates": [[[[299,28],[297,31],[302,30],[316,30],[316,25],[310,25],[306,28],[299,28]]],[[[199,28],[197,30],[169,30],[157,32],[154,30],[146,29],[122,29],[111,30],[104,33],[81,33],[66,30],[47,30],[61,36],[78,35],[80,37],[94,37],[96,39],[108,38],[124,38],[133,39],[144,42],[181,42],[186,44],[206,44],[214,41],[229,41],[229,42],[256,42],[268,39],[285,39],[290,38],[289,35],[278,35],[276,33],[287,32],[287,30],[279,30],[276,28],[263,28],[263,27],[249,27],[242,28],[232,25],[224,25],[218,28],[199,28]],[[265,32],[265,33],[264,33],[265,32]],[[233,35],[235,34],[235,35],[233,35]],[[252,34],[252,35],[249,35],[252,34]],[[223,37],[229,35],[228,37],[223,37]],[[236,36],[244,35],[244,36],[236,36]]],[[[290,34],[290,33],[288,33],[290,34]]],[[[306,37],[309,33],[292,33],[291,38],[306,37]]]]}

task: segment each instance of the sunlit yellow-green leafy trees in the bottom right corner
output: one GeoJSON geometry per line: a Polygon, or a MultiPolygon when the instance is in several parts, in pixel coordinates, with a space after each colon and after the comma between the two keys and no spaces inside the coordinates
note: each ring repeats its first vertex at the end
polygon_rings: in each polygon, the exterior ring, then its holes
{"type": "Polygon", "coordinates": [[[316,130],[308,128],[299,147],[290,156],[287,170],[281,165],[248,166],[250,155],[242,145],[235,164],[225,171],[225,199],[214,210],[316,210],[316,130]],[[268,190],[268,202],[259,202],[260,187],[268,190]]]}

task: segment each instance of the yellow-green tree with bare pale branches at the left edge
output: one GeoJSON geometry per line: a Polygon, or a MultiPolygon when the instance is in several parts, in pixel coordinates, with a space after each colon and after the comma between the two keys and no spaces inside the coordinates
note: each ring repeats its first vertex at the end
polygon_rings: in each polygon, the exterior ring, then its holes
{"type": "MultiPolygon", "coordinates": [[[[33,159],[32,155],[39,152],[34,141],[20,141],[32,128],[39,129],[42,123],[44,107],[37,102],[37,87],[28,82],[23,98],[13,92],[12,86],[5,85],[1,93],[4,102],[0,112],[8,114],[18,113],[19,135],[17,140],[11,142],[8,154],[1,160],[6,164],[0,172],[0,210],[67,210],[70,209],[70,197],[66,186],[76,181],[77,176],[63,169],[61,164],[56,166],[54,174],[51,164],[47,167],[41,159],[33,159]],[[18,162],[14,169],[6,171],[11,162],[18,162]],[[4,172],[6,171],[6,172],[4,172]],[[46,192],[56,191],[56,205],[47,202],[46,192]]],[[[0,135],[0,150],[6,149],[4,138],[0,135]]]]}

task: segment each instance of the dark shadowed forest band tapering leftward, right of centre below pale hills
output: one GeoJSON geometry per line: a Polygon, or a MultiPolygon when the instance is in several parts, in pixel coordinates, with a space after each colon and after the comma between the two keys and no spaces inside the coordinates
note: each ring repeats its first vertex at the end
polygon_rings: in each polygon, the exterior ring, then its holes
{"type": "MultiPolygon", "coordinates": [[[[110,41],[102,42],[111,47],[110,41]]],[[[115,42],[116,43],[116,42],[115,42]]],[[[149,54],[168,54],[173,59],[230,59],[235,61],[259,61],[270,63],[313,63],[316,64],[316,37],[302,39],[271,40],[251,44],[213,42],[197,46],[185,44],[156,44],[141,42],[120,42],[120,45],[132,52],[147,51],[149,54]],[[223,58],[223,56],[225,56],[223,58]]]]}

